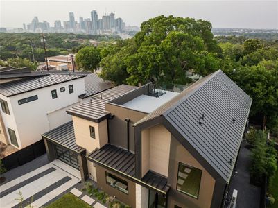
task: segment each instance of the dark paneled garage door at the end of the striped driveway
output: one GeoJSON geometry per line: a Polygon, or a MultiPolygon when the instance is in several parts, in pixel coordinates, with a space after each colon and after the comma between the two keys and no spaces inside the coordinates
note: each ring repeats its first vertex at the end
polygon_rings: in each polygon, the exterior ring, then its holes
{"type": "Polygon", "coordinates": [[[66,164],[69,164],[73,168],[80,170],[76,153],[72,153],[71,151],[67,150],[67,148],[62,146],[55,146],[55,148],[58,159],[66,164]]]}

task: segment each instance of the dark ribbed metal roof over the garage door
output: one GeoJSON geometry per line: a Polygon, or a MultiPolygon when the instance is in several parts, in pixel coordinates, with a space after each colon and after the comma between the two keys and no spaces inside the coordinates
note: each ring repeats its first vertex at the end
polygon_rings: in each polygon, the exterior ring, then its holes
{"type": "Polygon", "coordinates": [[[63,125],[50,130],[42,135],[50,141],[54,141],[56,144],[60,144],[66,148],[69,148],[76,153],[82,153],[85,151],[84,148],[81,148],[76,144],[76,137],[74,136],[73,122],[69,121],[63,125]]]}

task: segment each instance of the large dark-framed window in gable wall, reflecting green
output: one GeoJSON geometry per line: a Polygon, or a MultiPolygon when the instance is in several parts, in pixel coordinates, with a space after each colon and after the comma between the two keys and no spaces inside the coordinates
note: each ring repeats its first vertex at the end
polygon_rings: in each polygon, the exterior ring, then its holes
{"type": "Polygon", "coordinates": [[[201,177],[201,170],[180,162],[177,173],[177,191],[192,196],[193,198],[198,198],[201,177]]]}

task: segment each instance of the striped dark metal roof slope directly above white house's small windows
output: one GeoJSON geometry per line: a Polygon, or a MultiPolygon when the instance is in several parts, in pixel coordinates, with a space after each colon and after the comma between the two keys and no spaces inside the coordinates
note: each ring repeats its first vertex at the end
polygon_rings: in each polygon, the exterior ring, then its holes
{"type": "Polygon", "coordinates": [[[22,80],[15,80],[11,83],[3,83],[0,85],[0,93],[3,96],[15,96],[24,92],[29,92],[35,89],[40,89],[43,87],[49,87],[51,85],[56,85],[58,83],[64,83],[69,80],[75,80],[78,78],[85,77],[86,75],[79,74],[58,74],[50,73],[49,75],[42,76],[39,78],[25,78],[22,80]]]}

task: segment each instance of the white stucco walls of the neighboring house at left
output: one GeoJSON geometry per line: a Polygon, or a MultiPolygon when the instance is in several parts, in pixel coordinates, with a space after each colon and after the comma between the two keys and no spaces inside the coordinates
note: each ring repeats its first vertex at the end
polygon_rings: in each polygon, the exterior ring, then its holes
{"type": "Polygon", "coordinates": [[[10,98],[4,97],[3,100],[9,100],[10,116],[6,118],[8,115],[4,115],[3,122],[6,127],[10,126],[12,130],[15,130],[19,148],[24,148],[42,139],[41,135],[44,132],[71,121],[71,116],[67,114],[66,110],[72,105],[78,105],[80,103],[78,95],[84,93],[84,78],[79,78],[10,98]],[[71,94],[69,94],[69,85],[73,85],[71,94]],[[66,90],[60,92],[60,87],[65,87],[66,90]],[[51,90],[53,89],[57,90],[58,98],[52,99],[51,90]],[[38,96],[37,100],[18,104],[18,100],[34,95],[38,96]]]}

